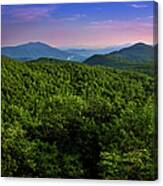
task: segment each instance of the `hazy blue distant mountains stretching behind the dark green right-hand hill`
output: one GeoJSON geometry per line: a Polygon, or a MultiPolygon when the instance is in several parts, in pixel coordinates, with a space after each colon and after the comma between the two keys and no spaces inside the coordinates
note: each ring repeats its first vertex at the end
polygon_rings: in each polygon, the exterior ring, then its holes
{"type": "Polygon", "coordinates": [[[29,42],[17,46],[3,47],[1,53],[21,61],[47,57],[82,62],[95,54],[108,54],[130,45],[125,44],[106,48],[56,48],[42,42],[29,42]]]}

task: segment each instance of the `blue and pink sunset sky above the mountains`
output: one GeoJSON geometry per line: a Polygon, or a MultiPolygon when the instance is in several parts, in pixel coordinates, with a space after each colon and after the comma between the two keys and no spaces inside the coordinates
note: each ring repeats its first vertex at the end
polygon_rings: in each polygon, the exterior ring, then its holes
{"type": "Polygon", "coordinates": [[[153,43],[153,1],[2,6],[2,46],[55,47],[153,43]]]}

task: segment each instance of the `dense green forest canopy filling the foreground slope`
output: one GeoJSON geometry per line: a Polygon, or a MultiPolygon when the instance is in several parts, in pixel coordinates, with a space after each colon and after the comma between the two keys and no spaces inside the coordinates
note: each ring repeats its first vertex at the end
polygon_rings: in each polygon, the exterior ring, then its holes
{"type": "Polygon", "coordinates": [[[2,58],[2,176],[154,180],[154,80],[2,58]]]}

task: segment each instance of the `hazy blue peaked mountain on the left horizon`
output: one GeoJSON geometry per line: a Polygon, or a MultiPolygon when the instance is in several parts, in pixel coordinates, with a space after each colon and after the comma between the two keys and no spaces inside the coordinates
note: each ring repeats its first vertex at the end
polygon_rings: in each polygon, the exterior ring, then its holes
{"type": "Polygon", "coordinates": [[[11,57],[16,60],[29,61],[41,57],[56,58],[63,60],[82,61],[80,55],[72,54],[71,52],[62,51],[58,48],[51,47],[41,42],[30,42],[18,46],[3,47],[2,55],[11,57]]]}

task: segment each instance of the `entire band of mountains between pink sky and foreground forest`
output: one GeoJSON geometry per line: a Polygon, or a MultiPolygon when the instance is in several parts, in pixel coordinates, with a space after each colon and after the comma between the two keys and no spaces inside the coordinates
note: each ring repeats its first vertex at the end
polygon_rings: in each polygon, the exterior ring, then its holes
{"type": "Polygon", "coordinates": [[[154,73],[155,49],[157,50],[157,45],[151,46],[145,43],[136,43],[125,45],[124,48],[121,47],[122,45],[103,49],[71,48],[61,50],[41,42],[30,42],[14,47],[4,47],[1,53],[20,61],[37,61],[39,58],[43,58],[46,61],[47,58],[51,58],[82,62],[87,65],[141,71],[148,74],[154,73]],[[93,55],[94,53],[95,55],[93,55]],[[90,55],[91,57],[88,57],[90,55]]]}

